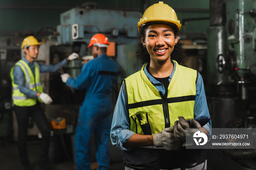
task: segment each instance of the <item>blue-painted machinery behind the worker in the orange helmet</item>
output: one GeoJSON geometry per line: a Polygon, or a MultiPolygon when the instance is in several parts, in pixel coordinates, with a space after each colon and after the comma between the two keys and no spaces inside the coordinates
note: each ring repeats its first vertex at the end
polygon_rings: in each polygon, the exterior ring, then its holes
{"type": "MultiPolygon", "coordinates": [[[[137,24],[142,13],[132,11],[113,11],[106,9],[73,8],[61,13],[57,26],[59,45],[70,45],[72,52],[80,56],[91,55],[87,46],[97,33],[105,34],[114,42],[116,61],[128,76],[140,69],[134,59],[137,24]]],[[[124,78],[124,77],[123,77],[124,78]]]]}

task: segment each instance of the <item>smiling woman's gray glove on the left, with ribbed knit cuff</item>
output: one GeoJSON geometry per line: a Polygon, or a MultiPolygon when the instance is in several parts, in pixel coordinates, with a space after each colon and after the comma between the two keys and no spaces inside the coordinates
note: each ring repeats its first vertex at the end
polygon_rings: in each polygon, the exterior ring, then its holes
{"type": "Polygon", "coordinates": [[[183,142],[179,142],[173,134],[174,126],[163,129],[159,134],[153,135],[156,147],[163,147],[167,151],[178,150],[183,142]]]}

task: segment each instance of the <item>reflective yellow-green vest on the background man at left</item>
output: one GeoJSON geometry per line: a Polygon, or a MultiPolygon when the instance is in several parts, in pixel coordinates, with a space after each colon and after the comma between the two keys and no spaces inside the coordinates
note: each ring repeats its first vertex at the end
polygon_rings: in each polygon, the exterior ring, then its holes
{"type": "Polygon", "coordinates": [[[39,100],[39,102],[41,103],[44,103],[40,98],[30,98],[26,96],[26,94],[21,93],[19,90],[19,86],[14,83],[13,71],[14,71],[14,67],[18,65],[20,66],[20,68],[22,69],[25,75],[25,86],[30,90],[42,93],[43,88],[40,81],[40,67],[37,62],[34,62],[34,63],[35,63],[35,76],[32,73],[29,65],[23,60],[19,60],[18,62],[16,62],[11,69],[10,76],[12,79],[12,100],[13,100],[13,103],[17,106],[33,106],[37,103],[37,100],[39,100]]]}

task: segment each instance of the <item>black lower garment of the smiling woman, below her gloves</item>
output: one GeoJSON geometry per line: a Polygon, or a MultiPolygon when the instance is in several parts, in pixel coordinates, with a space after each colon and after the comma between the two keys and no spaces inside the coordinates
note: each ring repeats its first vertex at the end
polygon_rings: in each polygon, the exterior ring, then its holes
{"type": "Polygon", "coordinates": [[[164,149],[149,149],[133,147],[124,152],[124,166],[133,170],[159,169],[196,169],[202,170],[206,161],[206,152],[203,149],[186,149],[181,147],[176,151],[164,149]]]}

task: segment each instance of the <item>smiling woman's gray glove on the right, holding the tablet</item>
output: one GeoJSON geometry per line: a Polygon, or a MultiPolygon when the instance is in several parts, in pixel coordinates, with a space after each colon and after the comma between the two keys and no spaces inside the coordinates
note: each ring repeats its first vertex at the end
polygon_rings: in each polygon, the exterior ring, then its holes
{"type": "Polygon", "coordinates": [[[189,122],[182,117],[178,117],[179,120],[176,120],[174,122],[174,136],[178,141],[185,142],[186,141],[186,128],[197,128],[195,130],[189,131],[190,133],[188,135],[193,135],[196,131],[200,130],[200,132],[203,132],[201,130],[201,125],[194,119],[191,119],[189,122]]]}

